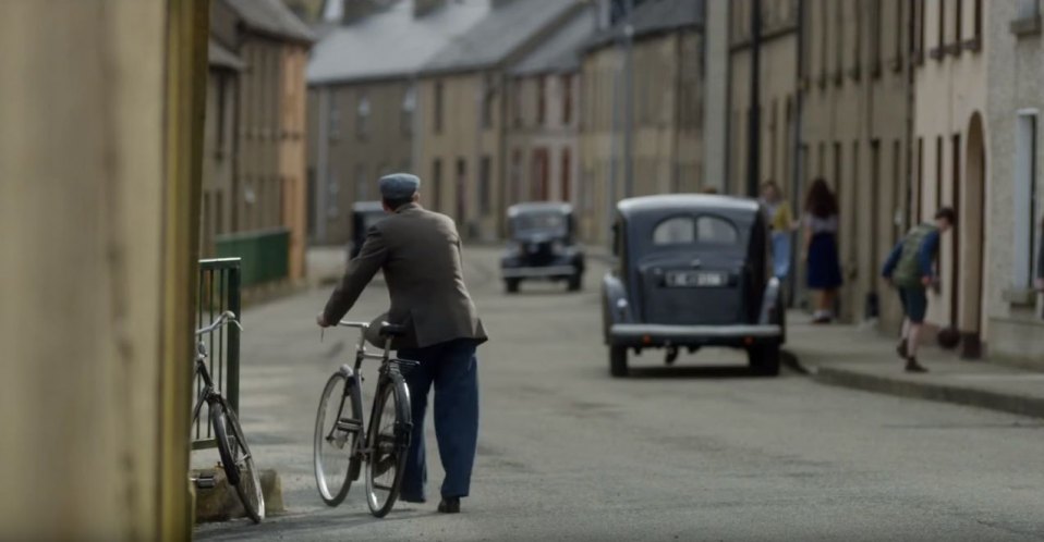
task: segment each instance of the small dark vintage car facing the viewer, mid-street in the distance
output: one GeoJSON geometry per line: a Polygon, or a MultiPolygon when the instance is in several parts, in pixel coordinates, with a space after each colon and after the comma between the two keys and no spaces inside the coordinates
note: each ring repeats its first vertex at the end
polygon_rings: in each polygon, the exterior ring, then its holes
{"type": "Polygon", "coordinates": [[[568,204],[519,204],[508,209],[510,244],[500,259],[508,293],[526,280],[566,281],[570,292],[583,285],[584,252],[575,242],[573,208],[568,204]]]}

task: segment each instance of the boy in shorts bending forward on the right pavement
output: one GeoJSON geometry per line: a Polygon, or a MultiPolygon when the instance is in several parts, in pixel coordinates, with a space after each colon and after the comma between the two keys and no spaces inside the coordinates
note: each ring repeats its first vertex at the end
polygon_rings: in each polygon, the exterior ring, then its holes
{"type": "Polygon", "coordinates": [[[896,245],[885,261],[882,275],[899,290],[902,303],[902,337],[896,352],[906,360],[907,372],[927,372],[918,362],[918,346],[924,315],[928,309],[926,288],[936,283],[935,257],[939,237],[954,226],[957,214],[944,207],[935,213],[935,222],[926,222],[910,230],[896,245]]]}

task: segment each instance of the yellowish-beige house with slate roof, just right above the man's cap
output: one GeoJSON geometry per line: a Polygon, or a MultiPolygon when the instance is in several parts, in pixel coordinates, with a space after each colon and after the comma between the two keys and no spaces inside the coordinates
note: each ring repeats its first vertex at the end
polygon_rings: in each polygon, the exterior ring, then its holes
{"type": "Polygon", "coordinates": [[[493,239],[502,233],[512,67],[583,5],[489,0],[488,12],[421,71],[415,170],[427,181],[423,202],[453,217],[465,236],[493,239]]]}

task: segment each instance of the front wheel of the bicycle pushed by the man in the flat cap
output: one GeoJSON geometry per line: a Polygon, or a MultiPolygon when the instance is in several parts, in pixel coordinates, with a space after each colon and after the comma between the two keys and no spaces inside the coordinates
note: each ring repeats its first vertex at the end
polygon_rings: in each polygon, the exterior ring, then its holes
{"type": "Polygon", "coordinates": [[[313,464],[316,488],[323,502],[328,506],[337,506],[344,501],[352,486],[352,481],[359,473],[360,456],[356,454],[356,443],[363,427],[361,405],[362,397],[359,386],[343,371],[338,371],[330,377],[323,389],[323,395],[319,397],[319,408],[315,417],[313,464]],[[344,410],[349,411],[350,417],[348,419],[354,420],[355,423],[353,424],[357,429],[341,431],[335,438],[332,423],[344,418],[344,410]],[[331,412],[332,416],[328,416],[331,412]],[[327,449],[331,453],[331,459],[343,455],[347,458],[347,464],[343,467],[338,467],[335,461],[328,461],[324,457],[324,451],[327,449]]]}

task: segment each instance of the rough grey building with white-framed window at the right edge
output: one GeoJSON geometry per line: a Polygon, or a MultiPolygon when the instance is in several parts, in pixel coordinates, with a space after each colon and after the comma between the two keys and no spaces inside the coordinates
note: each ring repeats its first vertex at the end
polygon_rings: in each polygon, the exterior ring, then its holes
{"type": "MultiPolygon", "coordinates": [[[[988,54],[983,119],[984,287],[982,336],[991,358],[1044,367],[1041,296],[1031,288],[1044,220],[1044,41],[1037,2],[985,2],[988,54]]],[[[970,143],[970,141],[969,141],[970,143]]],[[[972,173],[966,165],[966,178],[972,173]]],[[[968,183],[966,182],[966,185],[968,183]]],[[[967,206],[968,204],[966,204],[967,206]]]]}

